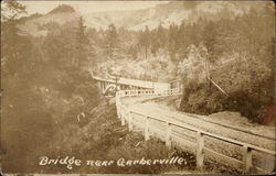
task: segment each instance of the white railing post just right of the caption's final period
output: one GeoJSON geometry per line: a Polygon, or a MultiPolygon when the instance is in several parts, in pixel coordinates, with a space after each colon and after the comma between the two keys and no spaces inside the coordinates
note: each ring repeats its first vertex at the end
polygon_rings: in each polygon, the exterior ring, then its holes
{"type": "Polygon", "coordinates": [[[198,131],[197,134],[197,168],[202,169],[203,168],[203,147],[204,147],[204,136],[203,133],[198,131]]]}

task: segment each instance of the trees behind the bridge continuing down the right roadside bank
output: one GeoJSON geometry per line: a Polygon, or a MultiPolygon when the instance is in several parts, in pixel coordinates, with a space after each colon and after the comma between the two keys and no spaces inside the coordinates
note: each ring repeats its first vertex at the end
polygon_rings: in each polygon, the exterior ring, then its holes
{"type": "Polygon", "coordinates": [[[106,31],[91,30],[97,59],[93,73],[156,81],[180,78],[183,111],[234,110],[268,124],[274,119],[274,7],[267,2],[236,15],[221,13],[221,18],[201,16],[195,23],[187,20],[169,29],[160,24],[142,31],[113,25],[106,31]],[[113,57],[106,50],[112,38],[117,38],[113,57]]]}

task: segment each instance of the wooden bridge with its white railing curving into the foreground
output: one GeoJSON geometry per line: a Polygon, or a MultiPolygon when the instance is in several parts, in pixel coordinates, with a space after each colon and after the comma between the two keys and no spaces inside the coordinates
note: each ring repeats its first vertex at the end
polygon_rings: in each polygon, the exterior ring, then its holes
{"type": "Polygon", "coordinates": [[[174,145],[194,153],[197,156],[197,167],[199,169],[203,168],[206,158],[215,158],[215,161],[219,161],[222,164],[226,163],[243,173],[251,173],[254,170],[254,173],[270,174],[273,173],[273,169],[275,170],[275,151],[206,132],[170,118],[168,118],[170,120],[164,120],[159,117],[152,117],[136,110],[130,110],[121,102],[121,98],[126,97],[163,97],[181,95],[182,86],[180,80],[171,81],[169,84],[152,84],[150,81],[126,78],[120,78],[119,80],[95,79],[100,82],[103,91],[108,84],[116,84],[116,81],[118,81],[117,84],[120,86],[120,90],[116,92],[116,108],[117,117],[120,119],[121,125],[127,124],[129,131],[136,130],[142,132],[146,141],[149,140],[150,136],[156,136],[163,140],[168,147],[174,145]],[[223,143],[223,145],[226,146],[224,150],[237,150],[241,160],[227,156],[210,146],[208,147],[206,143],[210,143],[212,140],[223,143]],[[256,164],[256,156],[257,158],[262,158],[263,162],[267,162],[267,158],[269,158],[268,162],[273,162],[270,165],[274,165],[274,168],[262,168],[262,166],[256,164]]]}

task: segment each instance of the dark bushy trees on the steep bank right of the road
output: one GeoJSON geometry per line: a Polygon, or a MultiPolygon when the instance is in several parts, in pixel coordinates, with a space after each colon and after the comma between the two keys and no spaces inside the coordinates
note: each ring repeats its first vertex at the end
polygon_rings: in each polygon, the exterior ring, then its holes
{"type": "Polygon", "coordinates": [[[251,10],[234,20],[205,26],[209,34],[203,43],[190,46],[180,64],[183,111],[203,114],[240,111],[253,122],[274,124],[270,8],[267,6],[262,13],[251,10]]]}

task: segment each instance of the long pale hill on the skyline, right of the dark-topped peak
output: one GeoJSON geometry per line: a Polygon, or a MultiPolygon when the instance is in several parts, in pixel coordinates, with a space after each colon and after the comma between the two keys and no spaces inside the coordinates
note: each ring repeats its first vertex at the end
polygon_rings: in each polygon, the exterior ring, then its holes
{"type": "Polygon", "coordinates": [[[247,12],[250,8],[259,9],[262,2],[235,1],[176,1],[158,4],[153,8],[135,11],[113,11],[84,14],[88,26],[106,29],[114,23],[128,30],[142,30],[146,25],[155,29],[159,24],[195,23],[199,19],[216,21],[222,18],[234,18],[247,12]]]}

